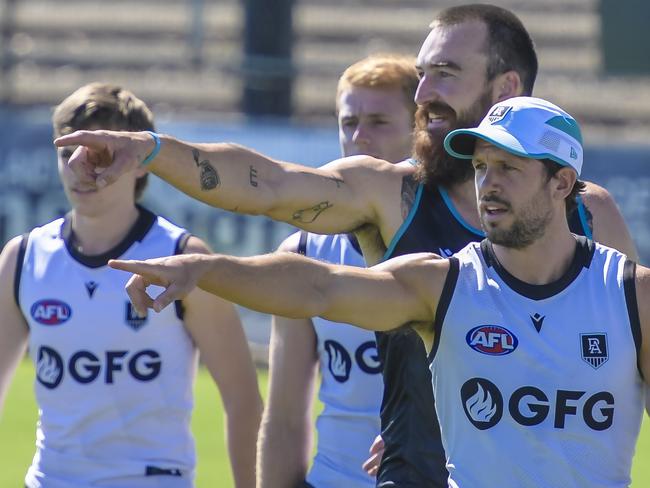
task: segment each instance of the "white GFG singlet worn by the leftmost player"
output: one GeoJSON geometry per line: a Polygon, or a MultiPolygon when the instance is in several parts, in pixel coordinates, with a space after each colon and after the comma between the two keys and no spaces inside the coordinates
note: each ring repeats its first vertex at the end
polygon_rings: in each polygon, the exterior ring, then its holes
{"type": "MultiPolygon", "coordinates": [[[[17,268],[40,414],[25,483],[189,487],[197,352],[179,304],[137,317],[124,290],[131,275],[82,264],[66,229],[58,219],[32,230],[17,268]]],[[[141,210],[120,257],[173,255],[186,235],[141,210]]]]}

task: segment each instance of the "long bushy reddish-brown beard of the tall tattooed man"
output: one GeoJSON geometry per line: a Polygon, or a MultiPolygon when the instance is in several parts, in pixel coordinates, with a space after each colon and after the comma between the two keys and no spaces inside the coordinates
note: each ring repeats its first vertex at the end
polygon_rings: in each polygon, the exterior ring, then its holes
{"type": "Polygon", "coordinates": [[[457,159],[445,151],[444,140],[455,129],[476,127],[492,103],[492,86],[489,85],[471,108],[465,112],[456,112],[443,102],[431,102],[418,105],[415,112],[415,134],[413,153],[418,161],[416,177],[429,188],[435,186],[453,186],[470,179],[474,170],[469,159],[457,159]],[[445,116],[449,126],[429,132],[427,123],[429,112],[445,116]]]}

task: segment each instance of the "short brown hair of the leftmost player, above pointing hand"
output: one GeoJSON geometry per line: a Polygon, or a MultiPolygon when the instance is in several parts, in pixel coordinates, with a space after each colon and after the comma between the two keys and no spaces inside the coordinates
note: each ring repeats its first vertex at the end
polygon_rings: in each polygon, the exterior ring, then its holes
{"type": "MultiPolygon", "coordinates": [[[[101,128],[139,132],[155,131],[149,107],[129,90],[108,83],[82,86],[59,105],[52,114],[54,137],[76,130],[101,128]]],[[[148,173],[135,180],[135,200],[147,186],[148,173]]]]}

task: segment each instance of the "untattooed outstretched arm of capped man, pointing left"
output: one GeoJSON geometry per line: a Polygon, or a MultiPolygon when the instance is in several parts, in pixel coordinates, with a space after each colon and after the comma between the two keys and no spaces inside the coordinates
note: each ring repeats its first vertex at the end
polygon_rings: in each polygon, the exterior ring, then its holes
{"type": "Polygon", "coordinates": [[[431,322],[449,269],[434,254],[411,254],[372,268],[332,265],[294,253],[238,258],[185,255],[110,261],[136,275],[127,291],[136,310],[161,310],[194,286],[264,313],[321,316],[368,330],[431,322]],[[147,286],[165,287],[155,301],[147,286]]]}

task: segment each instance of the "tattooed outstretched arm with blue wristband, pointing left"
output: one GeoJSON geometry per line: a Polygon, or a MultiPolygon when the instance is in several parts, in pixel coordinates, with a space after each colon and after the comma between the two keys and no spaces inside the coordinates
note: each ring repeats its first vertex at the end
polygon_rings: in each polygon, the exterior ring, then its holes
{"type": "MultiPolygon", "coordinates": [[[[170,136],[160,140],[160,152],[148,168],[191,197],[319,233],[376,225],[385,186],[394,186],[398,206],[402,173],[412,171],[366,156],[315,169],[276,161],[236,144],[189,144],[170,136]]],[[[54,142],[79,146],[68,164],[89,187],[112,183],[154,149],[154,139],[146,132],[77,131],[54,142]]]]}

